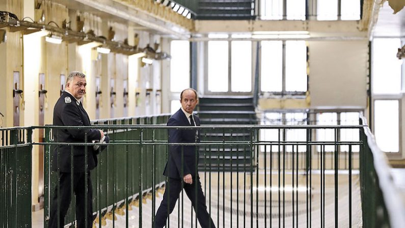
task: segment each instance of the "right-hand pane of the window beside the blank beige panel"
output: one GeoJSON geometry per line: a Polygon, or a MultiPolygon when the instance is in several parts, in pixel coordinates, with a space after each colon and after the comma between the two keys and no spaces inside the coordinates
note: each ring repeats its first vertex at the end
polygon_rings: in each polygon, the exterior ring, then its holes
{"type": "Polygon", "coordinates": [[[285,90],[307,91],[307,46],[303,40],[285,42],[285,90]]]}

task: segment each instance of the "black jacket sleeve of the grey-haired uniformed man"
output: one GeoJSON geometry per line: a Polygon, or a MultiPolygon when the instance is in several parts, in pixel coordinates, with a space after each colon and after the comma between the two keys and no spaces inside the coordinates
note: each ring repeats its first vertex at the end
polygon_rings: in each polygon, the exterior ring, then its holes
{"type": "MultiPolygon", "coordinates": [[[[75,104],[74,104],[75,105],[75,104]]],[[[74,105],[65,106],[62,112],[62,122],[65,126],[84,126],[82,117],[77,111],[74,105]]],[[[96,129],[67,129],[69,134],[77,141],[85,141],[85,136],[87,132],[87,141],[100,139],[101,133],[96,129]]]]}

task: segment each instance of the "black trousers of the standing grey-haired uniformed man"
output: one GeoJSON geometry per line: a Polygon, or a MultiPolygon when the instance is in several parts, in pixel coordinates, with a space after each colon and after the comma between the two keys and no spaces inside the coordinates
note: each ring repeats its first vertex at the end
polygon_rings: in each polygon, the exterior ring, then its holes
{"type": "MultiPolygon", "coordinates": [[[[58,186],[55,187],[55,193],[53,194],[51,208],[50,208],[50,218],[49,218],[49,228],[63,227],[65,224],[65,216],[69,209],[71,201],[71,173],[61,172],[59,175],[59,193],[58,186]],[[58,204],[58,198],[60,204],[58,204]],[[60,223],[58,226],[58,207],[60,223]]],[[[73,192],[76,196],[76,220],[78,228],[91,228],[93,224],[93,192],[91,185],[90,172],[87,174],[87,213],[86,211],[86,173],[78,172],[73,173],[73,192]],[[85,216],[87,216],[87,226],[85,223],[85,216]]]]}

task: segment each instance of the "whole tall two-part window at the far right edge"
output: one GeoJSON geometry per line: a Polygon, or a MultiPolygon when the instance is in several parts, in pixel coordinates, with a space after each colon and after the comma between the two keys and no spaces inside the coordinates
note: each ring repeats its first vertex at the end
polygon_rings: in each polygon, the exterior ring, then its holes
{"type": "Polygon", "coordinates": [[[396,58],[399,38],[372,41],[373,130],[385,152],[399,152],[399,102],[402,97],[402,60],[396,58]]]}

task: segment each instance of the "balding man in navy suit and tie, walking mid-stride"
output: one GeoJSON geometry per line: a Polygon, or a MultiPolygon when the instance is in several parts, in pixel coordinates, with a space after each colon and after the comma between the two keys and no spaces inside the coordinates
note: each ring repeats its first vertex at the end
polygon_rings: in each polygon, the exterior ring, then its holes
{"type": "MultiPolygon", "coordinates": [[[[197,91],[185,89],[180,94],[181,108],[173,114],[168,126],[199,126],[200,119],[193,115],[198,104],[197,91]]],[[[169,129],[169,143],[199,142],[198,131],[190,129],[169,129]]],[[[200,177],[197,172],[198,151],[194,145],[169,146],[169,158],[164,175],[168,177],[165,194],[156,212],[154,227],[163,227],[166,219],[172,213],[181,190],[191,200],[198,221],[203,228],[214,228],[215,225],[207,212],[205,197],[201,188],[200,177]],[[196,189],[197,188],[197,189],[196,189]],[[197,193],[197,195],[196,195],[197,193]],[[168,211],[169,208],[169,211],[168,211]]]]}

